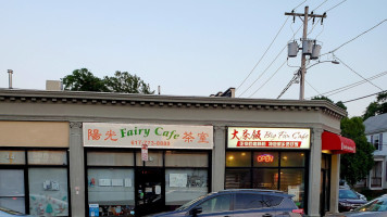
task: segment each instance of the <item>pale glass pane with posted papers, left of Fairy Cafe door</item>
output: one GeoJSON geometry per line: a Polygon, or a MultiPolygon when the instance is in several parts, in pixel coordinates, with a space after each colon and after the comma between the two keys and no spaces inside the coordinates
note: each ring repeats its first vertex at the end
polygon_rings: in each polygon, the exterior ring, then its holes
{"type": "Polygon", "coordinates": [[[135,205],[134,177],[134,169],[88,169],[89,204],[99,204],[101,209],[109,209],[109,206],[133,207],[135,205]]]}

